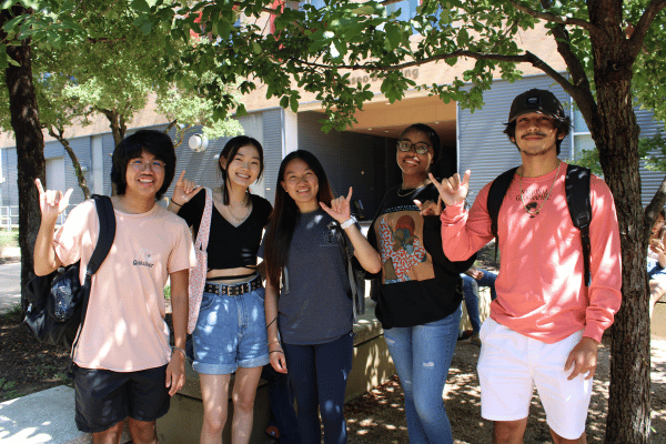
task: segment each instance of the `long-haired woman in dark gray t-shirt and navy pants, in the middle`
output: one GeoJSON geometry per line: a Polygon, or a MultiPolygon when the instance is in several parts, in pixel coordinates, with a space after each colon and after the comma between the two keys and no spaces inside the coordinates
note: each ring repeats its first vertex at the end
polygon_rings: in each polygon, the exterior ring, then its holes
{"type": "Polygon", "coordinates": [[[275,209],[259,253],[266,263],[271,365],[286,373],[289,363],[302,443],[321,442],[317,406],[324,442],[346,443],[343,404],[353,356],[352,301],[346,261],[329,222],[341,224],[369,272],[381,270],[380,255],[350,215],[352,189],[346,198],[333,200],[326,173],[312,153],[299,150],[284,158],[275,190],[275,209]]]}

